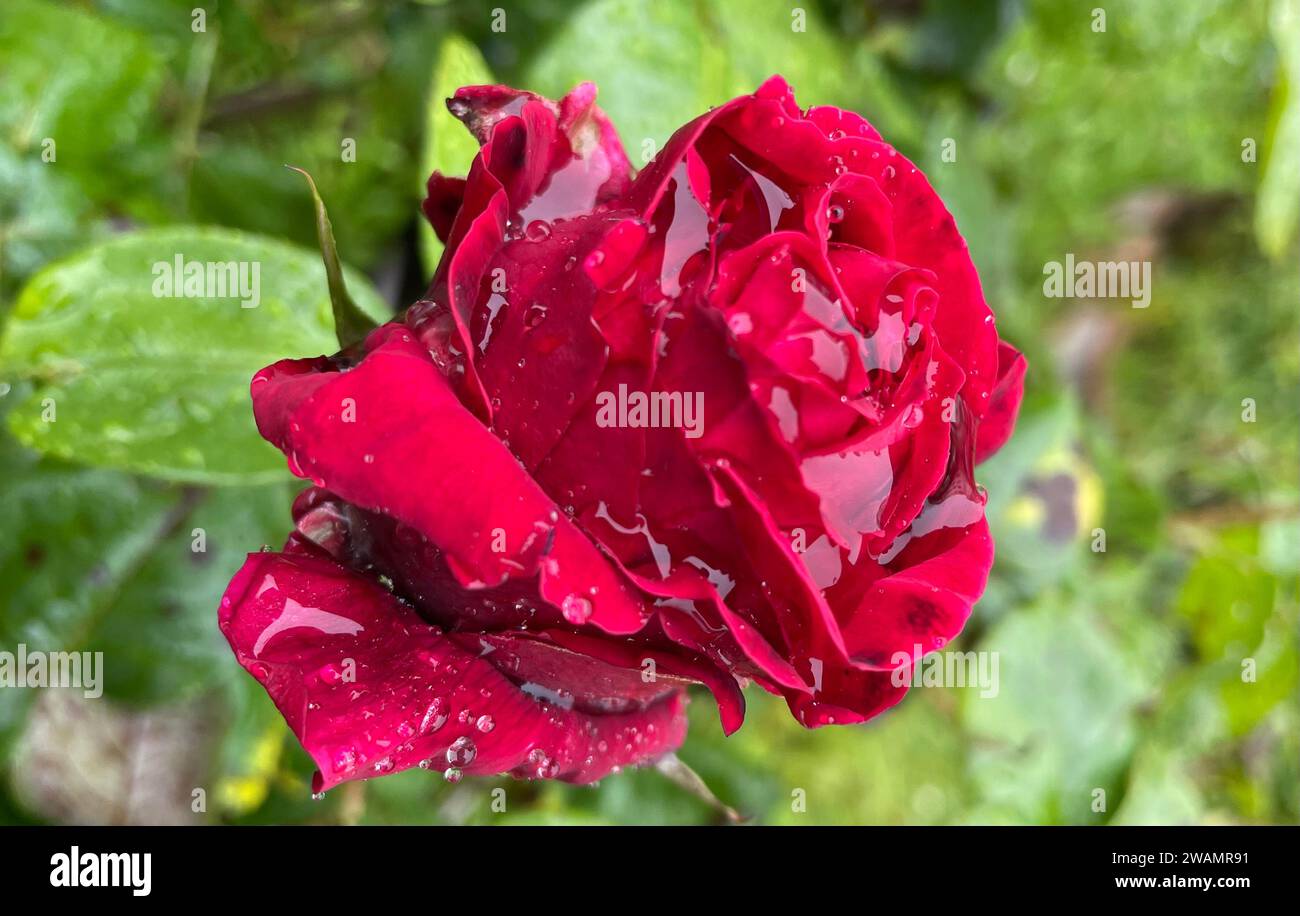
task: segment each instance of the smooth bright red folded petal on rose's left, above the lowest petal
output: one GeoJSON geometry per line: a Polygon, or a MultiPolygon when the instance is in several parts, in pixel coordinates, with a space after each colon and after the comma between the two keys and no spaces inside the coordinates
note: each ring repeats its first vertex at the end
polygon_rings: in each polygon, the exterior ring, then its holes
{"type": "Polygon", "coordinates": [[[582,616],[610,633],[641,629],[642,598],[462,405],[411,334],[391,325],[370,343],[356,368],[329,373],[296,403],[280,381],[299,375],[264,370],[254,379],[259,429],[278,434],[291,469],[417,529],[464,585],[540,570],[541,594],[555,607],[580,602],[582,616]]]}

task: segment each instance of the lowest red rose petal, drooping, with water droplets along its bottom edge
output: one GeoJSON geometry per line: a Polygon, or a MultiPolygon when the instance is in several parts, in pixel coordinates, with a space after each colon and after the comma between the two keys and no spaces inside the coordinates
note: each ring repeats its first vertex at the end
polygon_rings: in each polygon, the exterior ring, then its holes
{"type": "Polygon", "coordinates": [[[320,768],[313,791],[421,763],[590,782],[685,737],[680,691],[604,715],[538,699],[320,556],[250,555],[220,624],[320,768]]]}

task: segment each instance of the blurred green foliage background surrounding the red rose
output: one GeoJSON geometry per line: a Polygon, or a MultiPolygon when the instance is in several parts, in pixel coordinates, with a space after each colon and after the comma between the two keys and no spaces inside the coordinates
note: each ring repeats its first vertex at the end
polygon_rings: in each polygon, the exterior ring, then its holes
{"type": "MultiPolygon", "coordinates": [[[[1296,1],[1132,0],[1101,23],[1072,0],[493,9],[0,4],[0,647],[104,651],[121,709],[200,722],[177,751],[199,755],[198,820],[719,820],[653,769],[594,789],[416,770],[313,802],[216,605],[242,553],[282,539],[296,486],[247,379],[333,350],[311,197],[285,164],[315,177],[348,288],[381,316],[438,255],[428,172],[473,155],[442,107],[456,86],[595,81],[641,164],[780,71],[922,165],[1030,356],[1019,430],[980,472],[997,566],[957,646],[998,654],[1000,691],[920,689],[806,732],[751,690],[725,739],[699,696],[682,760],[759,822],[1300,821],[1296,1]],[[256,321],[150,296],[160,246],[255,251],[256,321]],[[1149,308],[1045,298],[1067,252],[1150,260],[1149,308]],[[57,424],[39,420],[51,396],[57,424]]],[[[0,691],[0,820],[68,809],[30,786],[43,715],[0,691]]]]}

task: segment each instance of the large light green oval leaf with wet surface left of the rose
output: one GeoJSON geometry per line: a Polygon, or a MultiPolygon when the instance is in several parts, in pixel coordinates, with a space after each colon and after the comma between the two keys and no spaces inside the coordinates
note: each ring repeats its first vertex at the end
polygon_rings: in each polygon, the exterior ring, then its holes
{"type": "MultiPolygon", "coordinates": [[[[368,314],[387,312],[364,278],[350,274],[348,285],[368,314]]],[[[285,463],[254,426],[252,374],[337,348],[316,253],[170,227],[116,238],[32,278],[0,340],[0,374],[38,382],[9,414],[38,451],[174,481],[257,483],[285,479],[285,463]],[[238,295],[155,296],[178,257],[244,265],[259,281],[248,283],[256,307],[238,295]]]]}

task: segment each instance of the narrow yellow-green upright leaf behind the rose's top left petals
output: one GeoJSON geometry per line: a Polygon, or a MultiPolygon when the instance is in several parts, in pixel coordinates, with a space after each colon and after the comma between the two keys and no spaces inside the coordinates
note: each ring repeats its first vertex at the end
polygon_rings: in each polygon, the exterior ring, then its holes
{"type": "MultiPolygon", "coordinates": [[[[424,197],[425,182],[434,172],[445,175],[469,174],[469,165],[478,153],[478,142],[447,110],[447,99],[462,86],[482,86],[494,83],[488,62],[472,42],[460,35],[447,35],[438,47],[437,62],[433,65],[433,78],[429,83],[429,100],[425,105],[424,148],[420,156],[420,196],[424,197]]],[[[442,257],[442,242],[429,221],[420,218],[420,264],[428,277],[438,266],[442,257]]]]}

